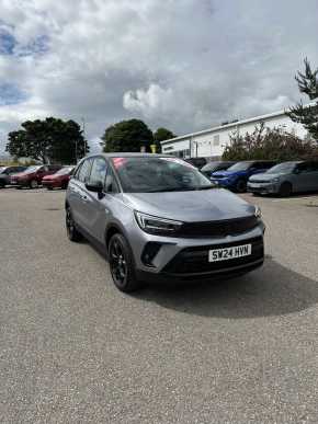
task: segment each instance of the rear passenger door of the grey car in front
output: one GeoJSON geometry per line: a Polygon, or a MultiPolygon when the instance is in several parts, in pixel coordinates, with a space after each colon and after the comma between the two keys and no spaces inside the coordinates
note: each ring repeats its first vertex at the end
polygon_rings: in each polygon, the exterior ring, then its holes
{"type": "Polygon", "coordinates": [[[88,198],[86,183],[89,181],[92,159],[83,160],[75,172],[68,187],[67,199],[70,205],[72,218],[83,230],[86,216],[86,200],[88,198]]]}

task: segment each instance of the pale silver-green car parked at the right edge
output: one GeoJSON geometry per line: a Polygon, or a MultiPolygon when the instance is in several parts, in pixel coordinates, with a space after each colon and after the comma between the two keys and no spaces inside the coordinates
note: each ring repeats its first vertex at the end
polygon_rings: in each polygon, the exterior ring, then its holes
{"type": "Polygon", "coordinates": [[[289,196],[296,192],[318,191],[318,162],[283,162],[249,179],[248,191],[289,196]]]}

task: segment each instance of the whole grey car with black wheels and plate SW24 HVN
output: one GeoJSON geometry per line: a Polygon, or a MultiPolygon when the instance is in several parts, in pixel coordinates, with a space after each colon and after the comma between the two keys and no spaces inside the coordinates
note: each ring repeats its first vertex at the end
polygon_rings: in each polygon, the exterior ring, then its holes
{"type": "Polygon", "coordinates": [[[65,206],[69,239],[100,248],[122,291],[141,282],[239,276],[263,263],[260,209],[170,156],[88,157],[65,206]]]}

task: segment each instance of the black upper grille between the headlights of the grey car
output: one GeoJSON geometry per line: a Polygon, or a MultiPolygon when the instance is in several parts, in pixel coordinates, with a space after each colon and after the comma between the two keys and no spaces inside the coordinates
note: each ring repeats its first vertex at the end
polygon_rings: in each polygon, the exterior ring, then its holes
{"type": "Polygon", "coordinates": [[[237,236],[252,230],[258,224],[259,220],[255,216],[218,221],[184,222],[178,236],[185,238],[237,236]]]}

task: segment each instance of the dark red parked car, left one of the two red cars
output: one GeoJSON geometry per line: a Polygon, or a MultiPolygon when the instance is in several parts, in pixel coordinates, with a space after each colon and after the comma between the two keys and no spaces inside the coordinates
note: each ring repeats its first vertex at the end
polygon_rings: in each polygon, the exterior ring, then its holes
{"type": "Polygon", "coordinates": [[[30,167],[25,171],[11,175],[10,183],[18,188],[30,187],[36,188],[42,184],[45,175],[54,174],[60,170],[61,165],[36,165],[30,167]]]}

